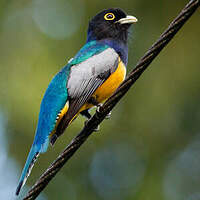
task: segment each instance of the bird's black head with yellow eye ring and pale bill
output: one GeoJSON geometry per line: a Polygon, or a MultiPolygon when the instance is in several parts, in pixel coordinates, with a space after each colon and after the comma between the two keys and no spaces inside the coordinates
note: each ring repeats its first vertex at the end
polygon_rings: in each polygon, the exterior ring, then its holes
{"type": "Polygon", "coordinates": [[[128,29],[135,22],[135,17],[127,15],[119,8],[103,10],[89,22],[88,41],[116,39],[127,43],[128,29]]]}

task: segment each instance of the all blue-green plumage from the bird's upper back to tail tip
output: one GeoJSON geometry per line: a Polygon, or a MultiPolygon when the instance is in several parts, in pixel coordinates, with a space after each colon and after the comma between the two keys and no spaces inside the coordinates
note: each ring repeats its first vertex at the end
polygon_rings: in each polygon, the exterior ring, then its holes
{"type": "Polygon", "coordinates": [[[40,106],[35,139],[22,171],[16,194],[19,194],[21,187],[24,185],[29,171],[34,164],[33,160],[36,154],[43,153],[48,148],[49,135],[55,128],[58,114],[68,100],[66,86],[71,67],[104,51],[108,47],[109,46],[97,41],[90,41],[86,43],[72,59],[72,61],[69,62],[59,73],[57,73],[50,82],[40,106]]]}

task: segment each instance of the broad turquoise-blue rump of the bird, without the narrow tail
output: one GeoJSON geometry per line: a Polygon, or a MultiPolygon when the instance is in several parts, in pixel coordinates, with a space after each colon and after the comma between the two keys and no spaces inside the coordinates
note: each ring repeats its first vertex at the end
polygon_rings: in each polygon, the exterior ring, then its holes
{"type": "Polygon", "coordinates": [[[58,72],[44,94],[33,142],[33,145],[38,147],[39,152],[46,151],[49,143],[49,135],[55,129],[58,116],[68,100],[66,85],[69,71],[70,69],[67,65],[58,72]]]}

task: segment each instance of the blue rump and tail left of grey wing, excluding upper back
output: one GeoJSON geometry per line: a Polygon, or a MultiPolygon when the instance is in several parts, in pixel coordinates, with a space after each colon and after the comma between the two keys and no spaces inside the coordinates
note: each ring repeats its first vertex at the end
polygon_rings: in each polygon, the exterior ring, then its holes
{"type": "Polygon", "coordinates": [[[22,171],[16,194],[19,194],[21,187],[26,182],[34,164],[34,160],[36,159],[36,155],[47,150],[49,144],[48,136],[55,128],[57,115],[64,107],[67,100],[66,83],[68,74],[69,66],[66,66],[53,78],[44,94],[40,106],[35,139],[22,171]]]}

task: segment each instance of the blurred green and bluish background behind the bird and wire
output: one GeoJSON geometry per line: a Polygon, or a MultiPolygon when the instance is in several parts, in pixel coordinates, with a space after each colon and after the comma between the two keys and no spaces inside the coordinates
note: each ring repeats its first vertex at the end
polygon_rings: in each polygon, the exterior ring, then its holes
{"type": "MultiPolygon", "coordinates": [[[[110,7],[138,18],[130,71],[187,2],[0,0],[1,199],[21,199],[83,127],[79,117],[39,157],[16,198],[42,96],[85,43],[88,20],[110,7]]],[[[198,10],[38,199],[199,200],[199,52],[198,10]]]]}

